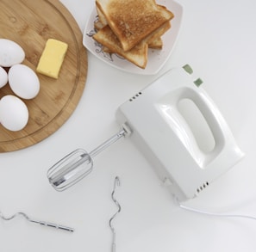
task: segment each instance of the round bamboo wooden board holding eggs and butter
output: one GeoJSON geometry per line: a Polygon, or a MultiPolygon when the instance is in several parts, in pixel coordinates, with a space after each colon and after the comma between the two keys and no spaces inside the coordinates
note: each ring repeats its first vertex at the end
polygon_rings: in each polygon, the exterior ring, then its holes
{"type": "MultiPolygon", "coordinates": [[[[48,39],[68,44],[59,78],[37,74],[39,95],[23,100],[28,106],[28,125],[19,132],[0,125],[0,152],[17,151],[56,132],[72,114],[84,90],[87,52],[77,22],[58,0],[0,0],[0,38],[22,46],[26,53],[22,64],[34,71],[48,39]]],[[[0,99],[4,95],[14,95],[9,84],[0,89],[0,99]]]]}

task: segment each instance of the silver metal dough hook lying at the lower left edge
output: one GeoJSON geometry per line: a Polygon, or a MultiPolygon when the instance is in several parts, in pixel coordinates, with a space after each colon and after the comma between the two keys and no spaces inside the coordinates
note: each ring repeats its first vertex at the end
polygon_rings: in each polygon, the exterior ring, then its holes
{"type": "Polygon", "coordinates": [[[34,224],[41,224],[41,225],[51,227],[51,228],[54,228],[54,229],[66,230],[66,231],[70,231],[70,232],[74,231],[74,229],[72,229],[71,227],[65,226],[65,225],[54,224],[54,223],[51,223],[51,222],[46,222],[46,221],[35,220],[33,218],[29,218],[28,215],[24,212],[16,212],[14,215],[12,215],[10,217],[5,217],[3,215],[3,213],[0,212],[0,218],[2,218],[3,220],[11,220],[11,219],[16,218],[18,216],[22,216],[23,218],[25,218],[26,220],[28,220],[29,222],[32,222],[34,224]]]}

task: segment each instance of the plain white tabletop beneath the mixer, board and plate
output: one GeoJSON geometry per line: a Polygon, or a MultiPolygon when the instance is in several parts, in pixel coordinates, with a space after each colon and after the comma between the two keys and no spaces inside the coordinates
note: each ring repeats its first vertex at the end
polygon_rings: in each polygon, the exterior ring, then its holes
{"type": "MultiPolygon", "coordinates": [[[[62,0],[81,31],[94,1],[62,0]]],[[[179,0],[184,6],[178,43],[159,74],[189,63],[202,77],[246,156],[186,206],[211,212],[256,216],[256,2],[179,0]]],[[[86,87],[78,108],[57,132],[21,151],[0,154],[0,210],[4,215],[66,224],[75,232],[52,230],[16,218],[0,220],[0,251],[111,251],[110,198],[122,212],[115,220],[116,252],[255,251],[256,221],[215,218],[180,209],[152,167],[128,139],[94,160],[91,175],[58,193],[47,169],[82,147],[91,151],[119,130],[116,108],[157,76],[118,71],[88,53],[86,87]]]]}

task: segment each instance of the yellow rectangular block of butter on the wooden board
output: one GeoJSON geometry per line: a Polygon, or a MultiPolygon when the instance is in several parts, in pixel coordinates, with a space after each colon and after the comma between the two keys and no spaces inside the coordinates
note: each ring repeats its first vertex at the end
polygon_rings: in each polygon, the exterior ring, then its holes
{"type": "Polygon", "coordinates": [[[66,55],[68,45],[65,42],[49,39],[41,54],[36,71],[57,79],[66,55]]]}

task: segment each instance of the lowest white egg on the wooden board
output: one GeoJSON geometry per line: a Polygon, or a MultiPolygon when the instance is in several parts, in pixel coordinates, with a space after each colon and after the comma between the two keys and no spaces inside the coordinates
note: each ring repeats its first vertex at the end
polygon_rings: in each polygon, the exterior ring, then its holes
{"type": "Polygon", "coordinates": [[[0,122],[9,131],[22,130],[28,123],[26,104],[14,95],[5,95],[0,101],[0,122]]]}

